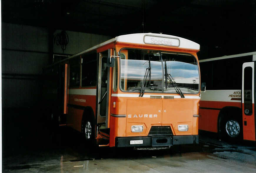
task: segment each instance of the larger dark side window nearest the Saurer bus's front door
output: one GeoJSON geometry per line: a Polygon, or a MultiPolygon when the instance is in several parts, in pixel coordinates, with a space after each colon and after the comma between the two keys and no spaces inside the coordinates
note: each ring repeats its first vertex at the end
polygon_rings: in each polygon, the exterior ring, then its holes
{"type": "Polygon", "coordinates": [[[81,60],[82,79],[81,86],[96,86],[97,81],[97,52],[89,52],[82,55],[81,60]]]}

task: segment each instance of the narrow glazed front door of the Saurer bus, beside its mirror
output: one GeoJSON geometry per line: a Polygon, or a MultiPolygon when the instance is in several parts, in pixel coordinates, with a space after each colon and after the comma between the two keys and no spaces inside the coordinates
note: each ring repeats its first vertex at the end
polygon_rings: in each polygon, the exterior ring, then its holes
{"type": "Polygon", "coordinates": [[[97,124],[107,127],[109,98],[109,67],[107,67],[108,51],[99,53],[99,83],[97,124]]]}

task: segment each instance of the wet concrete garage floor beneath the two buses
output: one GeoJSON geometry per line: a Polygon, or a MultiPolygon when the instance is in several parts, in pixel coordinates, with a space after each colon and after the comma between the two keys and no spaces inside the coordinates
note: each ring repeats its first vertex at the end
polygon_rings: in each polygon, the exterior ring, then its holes
{"type": "Polygon", "coordinates": [[[255,143],[230,143],[200,133],[196,146],[92,149],[67,127],[51,133],[40,118],[31,118],[38,111],[23,117],[19,112],[3,119],[2,172],[256,172],[255,143]]]}

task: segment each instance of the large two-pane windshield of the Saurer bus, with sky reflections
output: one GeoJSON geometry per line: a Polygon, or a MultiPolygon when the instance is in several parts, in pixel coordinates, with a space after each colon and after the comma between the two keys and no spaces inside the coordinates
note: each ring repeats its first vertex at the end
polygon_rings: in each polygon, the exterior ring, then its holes
{"type": "Polygon", "coordinates": [[[199,92],[198,64],[190,54],[121,49],[120,59],[120,88],[124,92],[142,89],[149,93],[199,92]]]}

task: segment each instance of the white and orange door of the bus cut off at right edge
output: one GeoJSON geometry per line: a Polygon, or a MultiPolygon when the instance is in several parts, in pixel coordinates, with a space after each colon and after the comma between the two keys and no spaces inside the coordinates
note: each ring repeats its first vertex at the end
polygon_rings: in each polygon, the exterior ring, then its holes
{"type": "Polygon", "coordinates": [[[243,136],[255,141],[255,62],[246,62],[242,69],[243,136]]]}

